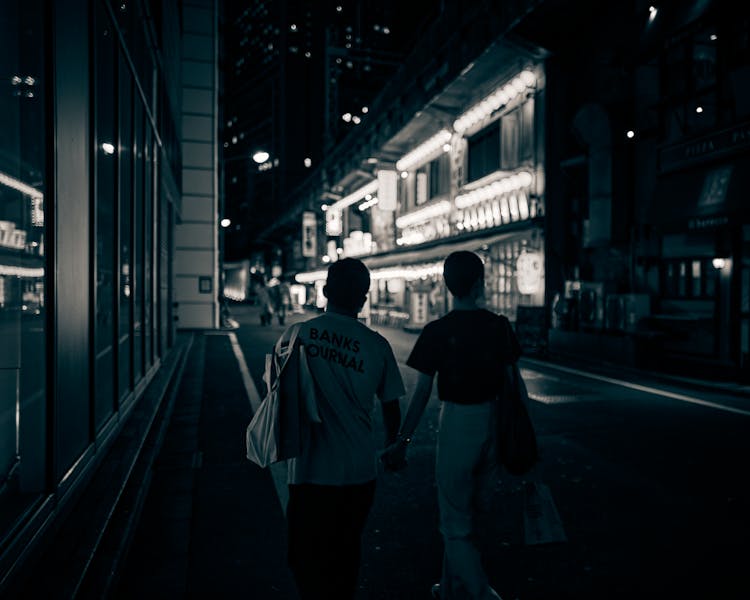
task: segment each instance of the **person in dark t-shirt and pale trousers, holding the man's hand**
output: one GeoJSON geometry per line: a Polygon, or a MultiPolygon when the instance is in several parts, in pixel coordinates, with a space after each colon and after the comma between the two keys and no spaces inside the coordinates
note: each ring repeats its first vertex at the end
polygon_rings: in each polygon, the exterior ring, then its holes
{"type": "Polygon", "coordinates": [[[385,456],[394,463],[405,460],[437,373],[441,407],[435,479],[444,554],[441,581],[432,586],[432,594],[443,600],[497,600],[472,540],[475,500],[485,483],[482,476],[494,466],[492,401],[521,348],[508,319],[479,306],[484,296],[479,256],[450,254],[443,277],[454,298],[453,310],[424,327],[406,361],[419,372],[417,385],[402,433],[385,456]]]}

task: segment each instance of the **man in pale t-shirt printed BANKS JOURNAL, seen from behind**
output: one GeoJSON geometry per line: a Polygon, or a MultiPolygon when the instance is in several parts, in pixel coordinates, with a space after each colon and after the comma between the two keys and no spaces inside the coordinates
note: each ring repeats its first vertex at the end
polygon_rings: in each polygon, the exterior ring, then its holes
{"type": "Polygon", "coordinates": [[[386,445],[401,421],[404,385],[393,350],[357,319],[369,288],[362,261],[333,263],[323,288],[326,311],[299,331],[321,418],[312,424],[309,447],[288,461],[288,560],[303,600],[354,598],[377,477],[375,396],[386,445]]]}

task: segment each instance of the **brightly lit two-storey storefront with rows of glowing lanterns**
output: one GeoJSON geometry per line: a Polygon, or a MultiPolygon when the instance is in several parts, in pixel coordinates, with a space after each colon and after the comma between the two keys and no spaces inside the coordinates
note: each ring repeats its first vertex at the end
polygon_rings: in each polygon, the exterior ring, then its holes
{"type": "MultiPolygon", "coordinates": [[[[406,147],[394,164],[323,205],[329,249],[321,266],[345,256],[363,260],[372,273],[372,323],[419,329],[449,311],[442,265],[455,250],[482,257],[488,309],[515,320],[518,306],[544,306],[544,167],[537,135],[543,70],[528,63],[481,83],[484,92],[448,127],[421,132],[424,141],[406,147]],[[370,231],[347,229],[364,222],[355,211],[370,215],[370,231]]],[[[297,276],[318,285],[324,278],[324,269],[297,276]]]]}

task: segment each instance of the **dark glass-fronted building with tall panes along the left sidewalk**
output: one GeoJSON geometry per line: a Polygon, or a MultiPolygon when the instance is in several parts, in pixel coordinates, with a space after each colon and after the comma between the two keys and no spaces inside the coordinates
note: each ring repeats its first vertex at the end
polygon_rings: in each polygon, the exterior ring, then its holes
{"type": "MultiPolygon", "coordinates": [[[[200,154],[215,178],[215,152],[182,143],[191,90],[213,94],[202,77],[191,84],[183,53],[198,9],[214,11],[171,0],[0,8],[0,594],[177,370],[176,328],[192,315],[175,311],[189,301],[176,293],[176,224],[211,221],[216,236],[215,206],[192,208],[216,190],[189,171],[200,154]]],[[[209,74],[212,43],[196,58],[209,74]]],[[[216,281],[213,262],[205,275],[216,281]]]]}

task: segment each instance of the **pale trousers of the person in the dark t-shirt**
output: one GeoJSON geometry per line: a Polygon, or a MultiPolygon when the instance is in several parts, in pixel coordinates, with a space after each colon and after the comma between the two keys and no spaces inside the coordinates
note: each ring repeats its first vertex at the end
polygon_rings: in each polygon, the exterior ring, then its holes
{"type": "Polygon", "coordinates": [[[435,479],[443,535],[442,600],[497,600],[473,541],[475,501],[492,461],[489,402],[441,402],[435,479]]]}

